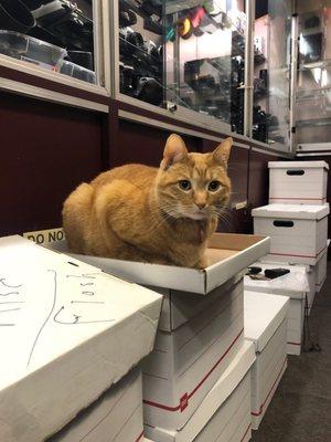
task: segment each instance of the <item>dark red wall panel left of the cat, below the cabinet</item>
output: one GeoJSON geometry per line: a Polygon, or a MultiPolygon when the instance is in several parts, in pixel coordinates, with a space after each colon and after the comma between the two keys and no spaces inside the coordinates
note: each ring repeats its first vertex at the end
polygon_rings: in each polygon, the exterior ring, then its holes
{"type": "Polygon", "coordinates": [[[0,94],[0,235],[61,227],[68,192],[105,165],[103,116],[0,94]]]}

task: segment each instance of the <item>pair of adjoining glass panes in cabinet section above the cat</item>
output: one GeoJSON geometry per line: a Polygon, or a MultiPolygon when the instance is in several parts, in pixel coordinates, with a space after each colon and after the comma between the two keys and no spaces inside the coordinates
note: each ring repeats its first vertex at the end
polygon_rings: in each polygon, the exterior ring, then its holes
{"type": "Polygon", "coordinates": [[[119,92],[243,134],[244,0],[119,0],[119,92]]]}

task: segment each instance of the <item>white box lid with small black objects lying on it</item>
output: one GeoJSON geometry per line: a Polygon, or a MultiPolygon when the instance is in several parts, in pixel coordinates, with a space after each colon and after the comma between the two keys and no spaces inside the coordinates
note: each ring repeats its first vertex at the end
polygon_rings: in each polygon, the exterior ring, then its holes
{"type": "Polygon", "coordinates": [[[252,280],[250,276],[244,277],[244,287],[250,292],[265,292],[275,295],[289,296],[293,299],[302,299],[309,292],[307,272],[310,266],[285,263],[261,263],[257,262],[254,266],[266,269],[288,269],[290,273],[275,277],[274,280],[252,280]]]}

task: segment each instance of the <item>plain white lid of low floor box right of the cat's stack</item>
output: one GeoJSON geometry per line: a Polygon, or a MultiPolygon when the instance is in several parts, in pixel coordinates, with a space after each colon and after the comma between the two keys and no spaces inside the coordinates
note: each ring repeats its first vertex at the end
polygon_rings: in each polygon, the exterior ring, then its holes
{"type": "Polygon", "coordinates": [[[289,308],[288,296],[244,292],[244,334],[260,352],[284,322],[289,308]]]}

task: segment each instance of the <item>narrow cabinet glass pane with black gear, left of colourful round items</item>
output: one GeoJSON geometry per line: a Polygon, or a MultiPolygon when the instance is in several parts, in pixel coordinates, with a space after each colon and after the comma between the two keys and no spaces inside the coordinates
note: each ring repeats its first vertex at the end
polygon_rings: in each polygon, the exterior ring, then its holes
{"type": "Polygon", "coordinates": [[[164,106],[163,1],[119,1],[119,91],[164,106]]]}

